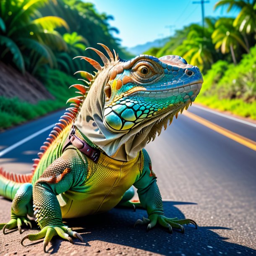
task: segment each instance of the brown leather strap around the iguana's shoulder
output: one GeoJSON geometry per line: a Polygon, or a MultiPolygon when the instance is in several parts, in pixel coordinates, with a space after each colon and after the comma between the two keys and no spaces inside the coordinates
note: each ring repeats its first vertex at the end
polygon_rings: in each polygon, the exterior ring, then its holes
{"type": "Polygon", "coordinates": [[[86,141],[81,140],[76,136],[76,126],[73,125],[71,128],[71,132],[66,139],[64,146],[62,148],[62,152],[69,146],[73,145],[82,153],[84,153],[87,157],[89,157],[94,163],[97,163],[99,160],[100,151],[98,149],[92,148],[86,141]]]}

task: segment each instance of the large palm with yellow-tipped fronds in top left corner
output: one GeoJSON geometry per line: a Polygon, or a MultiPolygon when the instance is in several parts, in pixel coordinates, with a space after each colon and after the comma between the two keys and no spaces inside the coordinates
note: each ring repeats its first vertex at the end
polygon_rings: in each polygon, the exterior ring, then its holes
{"type": "Polygon", "coordinates": [[[55,63],[52,50],[67,50],[57,27],[68,24],[59,17],[42,17],[39,7],[49,0],[0,1],[0,60],[15,65],[23,73],[35,73],[44,63],[55,63]],[[32,18],[33,17],[33,18],[32,18]]]}

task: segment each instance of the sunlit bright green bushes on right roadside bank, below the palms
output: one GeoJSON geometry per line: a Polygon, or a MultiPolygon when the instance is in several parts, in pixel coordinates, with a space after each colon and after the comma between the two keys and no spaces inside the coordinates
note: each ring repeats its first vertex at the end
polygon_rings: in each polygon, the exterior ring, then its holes
{"type": "Polygon", "coordinates": [[[214,63],[196,102],[256,119],[256,45],[238,65],[214,63]]]}

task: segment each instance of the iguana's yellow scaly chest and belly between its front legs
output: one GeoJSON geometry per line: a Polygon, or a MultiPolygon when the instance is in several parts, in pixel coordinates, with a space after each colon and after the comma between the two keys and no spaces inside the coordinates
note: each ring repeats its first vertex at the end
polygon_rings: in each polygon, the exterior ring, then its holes
{"type": "MultiPolygon", "coordinates": [[[[81,153],[82,154],[82,153],[81,153]]],[[[141,152],[128,162],[100,154],[97,164],[83,154],[88,170],[84,183],[57,196],[63,218],[106,212],[115,207],[138,177],[144,159],[141,152]]]]}

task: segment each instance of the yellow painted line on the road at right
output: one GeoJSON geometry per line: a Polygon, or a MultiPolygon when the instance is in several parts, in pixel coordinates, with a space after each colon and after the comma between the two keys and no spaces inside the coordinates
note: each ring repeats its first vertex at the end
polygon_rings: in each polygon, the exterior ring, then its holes
{"type": "Polygon", "coordinates": [[[250,149],[253,149],[256,151],[256,142],[252,141],[246,137],[243,137],[237,133],[234,133],[232,131],[229,131],[219,125],[216,125],[215,123],[212,123],[204,118],[199,117],[198,115],[195,115],[191,112],[184,111],[183,115],[187,116],[188,118],[191,118],[192,120],[212,129],[213,131],[216,131],[217,133],[220,133],[227,138],[231,138],[233,141],[236,141],[244,146],[247,146],[250,149]]]}

